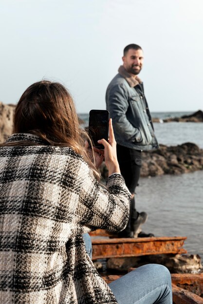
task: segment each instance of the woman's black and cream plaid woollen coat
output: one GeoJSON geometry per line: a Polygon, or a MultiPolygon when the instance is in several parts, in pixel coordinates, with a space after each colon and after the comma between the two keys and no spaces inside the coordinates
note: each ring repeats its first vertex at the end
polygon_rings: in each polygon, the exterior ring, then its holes
{"type": "Polygon", "coordinates": [[[0,147],[0,303],[115,304],[85,251],[82,234],[120,231],[130,193],[113,174],[98,185],[82,156],[31,134],[0,147]]]}

